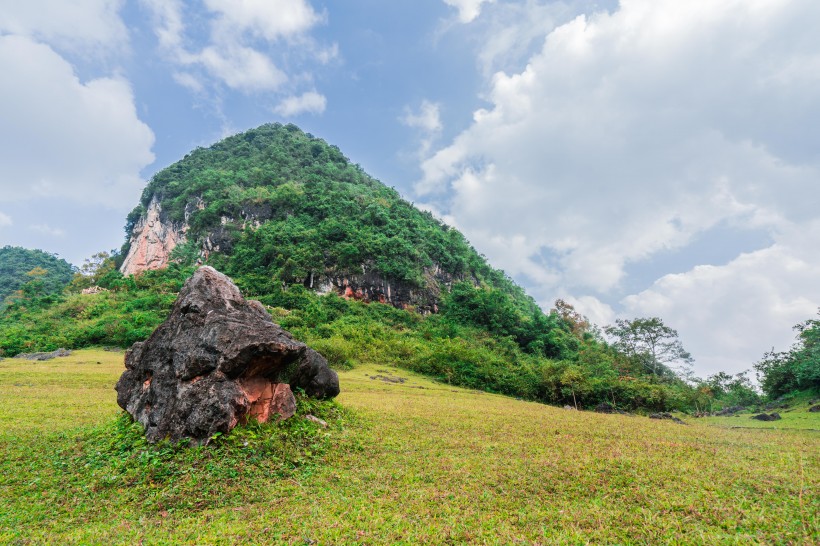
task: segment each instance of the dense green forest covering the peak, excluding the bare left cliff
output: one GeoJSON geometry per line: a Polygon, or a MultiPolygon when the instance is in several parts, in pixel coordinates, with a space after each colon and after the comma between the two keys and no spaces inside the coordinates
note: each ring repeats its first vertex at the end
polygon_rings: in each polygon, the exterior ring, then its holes
{"type": "Polygon", "coordinates": [[[187,222],[194,251],[205,238],[217,239],[213,265],[247,277],[259,293],[311,274],[365,271],[425,287],[426,270],[436,267],[526,299],[461,233],[295,125],[263,125],[158,172],[129,215],[127,233],[154,198],[165,218],[187,222]]]}

